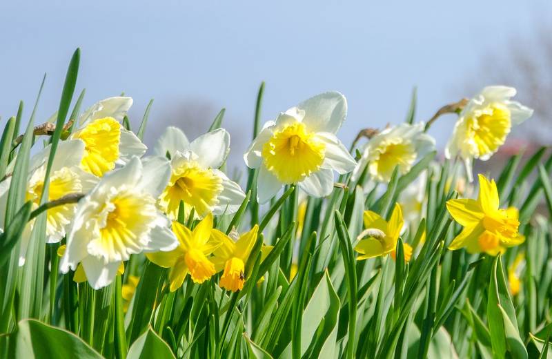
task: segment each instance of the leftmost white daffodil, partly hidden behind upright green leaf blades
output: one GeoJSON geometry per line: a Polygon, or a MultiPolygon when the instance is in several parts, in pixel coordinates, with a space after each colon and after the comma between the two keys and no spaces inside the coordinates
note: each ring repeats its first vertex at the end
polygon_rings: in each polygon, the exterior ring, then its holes
{"type": "MultiPolygon", "coordinates": [[[[32,209],[36,209],[40,205],[50,148],[51,146],[48,145],[30,159],[26,200],[32,202],[32,209]]],[[[98,180],[97,177],[83,171],[79,166],[83,155],[84,143],[81,140],[72,139],[59,142],[50,170],[50,186],[46,202],[57,200],[70,193],[87,193],[95,186],[98,180]]],[[[12,177],[7,177],[0,184],[0,202],[2,206],[5,206],[8,200],[11,181],[12,177]]],[[[48,243],[59,242],[61,238],[65,237],[66,229],[68,229],[75,215],[76,208],[77,204],[63,204],[48,209],[46,212],[46,240],[48,243]]],[[[3,227],[4,218],[3,216],[0,217],[3,227]]],[[[27,224],[21,237],[20,265],[23,265],[25,261],[33,224],[34,220],[27,224]]]]}

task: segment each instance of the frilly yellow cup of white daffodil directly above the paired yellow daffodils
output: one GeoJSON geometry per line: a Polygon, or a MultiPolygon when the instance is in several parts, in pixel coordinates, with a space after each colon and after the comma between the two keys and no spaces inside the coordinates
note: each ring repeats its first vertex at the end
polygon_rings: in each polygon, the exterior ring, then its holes
{"type": "Polygon", "coordinates": [[[184,201],[186,215],[195,207],[195,212],[203,217],[219,203],[218,196],[223,189],[221,182],[222,179],[213,170],[186,162],[172,169],[170,182],[161,194],[161,208],[172,220],[176,220],[180,201],[184,201]]]}

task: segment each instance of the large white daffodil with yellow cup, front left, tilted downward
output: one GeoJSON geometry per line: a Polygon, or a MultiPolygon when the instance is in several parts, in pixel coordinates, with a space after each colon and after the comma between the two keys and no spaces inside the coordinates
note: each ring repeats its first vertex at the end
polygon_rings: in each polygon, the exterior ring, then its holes
{"type": "Polygon", "coordinates": [[[164,157],[132,157],[107,173],[79,201],[61,258],[63,273],[82,264],[88,283],[110,284],[131,254],[171,251],[178,242],[155,202],[167,185],[170,165],[164,157]]]}

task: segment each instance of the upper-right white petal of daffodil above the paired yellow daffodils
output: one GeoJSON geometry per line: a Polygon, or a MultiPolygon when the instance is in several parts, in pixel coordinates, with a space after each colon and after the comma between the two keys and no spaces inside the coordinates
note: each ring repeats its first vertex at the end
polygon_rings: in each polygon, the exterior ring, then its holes
{"type": "Polygon", "coordinates": [[[230,151],[230,134],[224,128],[219,128],[194,139],[190,148],[199,156],[201,166],[219,168],[230,151]]]}

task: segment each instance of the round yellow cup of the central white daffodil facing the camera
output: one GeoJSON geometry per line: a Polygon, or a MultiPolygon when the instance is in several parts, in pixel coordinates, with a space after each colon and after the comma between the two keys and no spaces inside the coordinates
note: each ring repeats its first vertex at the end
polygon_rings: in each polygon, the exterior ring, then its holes
{"type": "Polygon", "coordinates": [[[264,165],[285,184],[301,182],[319,170],[326,145],[295,122],[274,133],[263,146],[264,165]]]}

